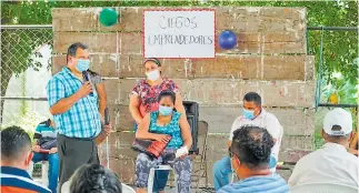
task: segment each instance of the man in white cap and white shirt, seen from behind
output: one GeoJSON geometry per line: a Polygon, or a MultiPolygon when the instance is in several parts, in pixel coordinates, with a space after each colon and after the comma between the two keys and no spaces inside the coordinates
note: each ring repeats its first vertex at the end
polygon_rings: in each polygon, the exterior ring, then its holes
{"type": "Polygon", "coordinates": [[[288,184],[295,186],[326,182],[358,187],[359,159],[347,151],[351,132],[352,119],[349,112],[340,108],[329,111],[321,131],[326,144],[299,160],[288,184]]]}

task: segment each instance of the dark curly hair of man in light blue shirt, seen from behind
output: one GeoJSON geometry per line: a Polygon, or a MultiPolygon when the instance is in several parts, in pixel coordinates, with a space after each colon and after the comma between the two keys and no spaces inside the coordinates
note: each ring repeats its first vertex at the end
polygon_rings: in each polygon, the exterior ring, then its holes
{"type": "Polygon", "coordinates": [[[273,145],[273,139],[266,129],[243,125],[233,133],[231,152],[249,169],[267,169],[273,145]]]}

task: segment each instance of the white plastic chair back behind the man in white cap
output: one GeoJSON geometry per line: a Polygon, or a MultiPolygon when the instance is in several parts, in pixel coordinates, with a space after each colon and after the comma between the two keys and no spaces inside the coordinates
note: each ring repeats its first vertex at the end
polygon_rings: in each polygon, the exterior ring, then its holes
{"type": "Polygon", "coordinates": [[[358,193],[359,189],[337,183],[308,183],[291,187],[291,193],[358,193]]]}

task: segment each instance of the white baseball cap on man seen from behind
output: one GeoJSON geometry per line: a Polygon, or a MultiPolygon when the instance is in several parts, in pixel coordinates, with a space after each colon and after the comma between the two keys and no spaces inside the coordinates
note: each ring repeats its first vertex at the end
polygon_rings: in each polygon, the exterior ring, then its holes
{"type": "Polygon", "coordinates": [[[342,136],[351,133],[352,132],[351,114],[341,108],[336,108],[329,111],[325,116],[323,129],[325,129],[325,132],[329,135],[342,136]],[[341,130],[339,131],[332,130],[335,125],[340,126],[341,130]]]}

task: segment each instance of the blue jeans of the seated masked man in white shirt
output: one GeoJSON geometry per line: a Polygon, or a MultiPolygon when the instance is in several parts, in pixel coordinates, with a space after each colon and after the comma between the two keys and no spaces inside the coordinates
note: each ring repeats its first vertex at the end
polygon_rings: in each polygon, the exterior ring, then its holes
{"type": "MultiPolygon", "coordinates": [[[[269,167],[276,167],[277,160],[270,155],[269,167]]],[[[217,161],[213,164],[213,183],[216,192],[222,186],[229,184],[229,174],[232,173],[232,165],[230,163],[230,158],[225,156],[222,160],[217,161]]]]}

